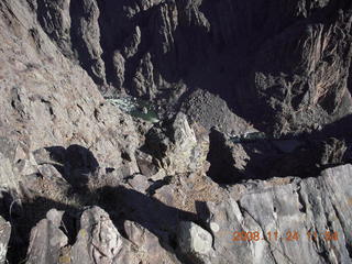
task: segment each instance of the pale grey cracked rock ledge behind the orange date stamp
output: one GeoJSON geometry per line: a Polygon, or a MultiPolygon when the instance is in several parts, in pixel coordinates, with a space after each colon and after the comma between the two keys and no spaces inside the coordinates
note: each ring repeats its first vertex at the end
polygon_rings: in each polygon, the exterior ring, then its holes
{"type": "Polygon", "coordinates": [[[208,223],[220,227],[212,233],[215,250],[222,256],[211,263],[351,263],[351,169],[329,168],[318,178],[280,185],[256,183],[240,198],[209,202],[208,223]],[[233,232],[242,231],[258,231],[260,240],[233,241],[233,232]],[[296,231],[299,238],[289,240],[288,232],[296,231]],[[327,231],[337,232],[338,240],[329,240],[327,231]]]}

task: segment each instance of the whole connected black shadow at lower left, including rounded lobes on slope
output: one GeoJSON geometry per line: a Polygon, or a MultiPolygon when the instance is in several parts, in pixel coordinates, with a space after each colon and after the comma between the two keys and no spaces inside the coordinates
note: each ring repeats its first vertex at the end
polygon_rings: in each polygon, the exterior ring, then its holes
{"type": "MultiPolygon", "coordinates": [[[[99,163],[94,153],[84,146],[76,144],[67,148],[51,146],[45,147],[45,150],[38,150],[35,155],[35,158],[40,161],[38,164],[54,165],[57,168],[70,185],[70,191],[75,196],[67,194],[65,204],[63,204],[43,197],[43,195],[35,195],[36,191],[41,193],[41,189],[34,189],[32,194],[31,187],[28,187],[29,189],[26,190],[31,195],[25,195],[21,198],[18,198],[12,193],[0,196],[0,213],[12,226],[12,237],[8,253],[10,263],[19,263],[25,260],[31,230],[38,221],[45,219],[47,211],[53,208],[66,211],[62,230],[68,237],[69,243],[74,244],[79,231],[77,223],[81,211],[85,209],[84,206],[99,206],[105,209],[117,229],[124,237],[127,235],[124,231],[124,222],[127,220],[139,223],[156,235],[165,250],[176,254],[183,263],[187,263],[187,261],[183,260],[179,249],[177,249],[178,223],[180,221],[194,221],[200,226],[206,226],[201,217],[166,206],[148,195],[143,195],[122,186],[106,186],[91,190],[87,184],[89,183],[89,177],[98,170],[99,163]],[[66,205],[72,198],[78,199],[77,208],[76,206],[66,205]],[[81,201],[85,201],[85,204],[81,201]]],[[[42,175],[42,177],[47,177],[48,182],[55,180],[55,177],[51,179],[51,175],[42,175]]],[[[166,178],[165,180],[156,183],[153,187],[157,188],[158,185],[165,185],[169,179],[166,178]]],[[[153,193],[153,188],[150,191],[153,193]]],[[[76,205],[76,200],[73,200],[70,205],[76,205]]]]}

